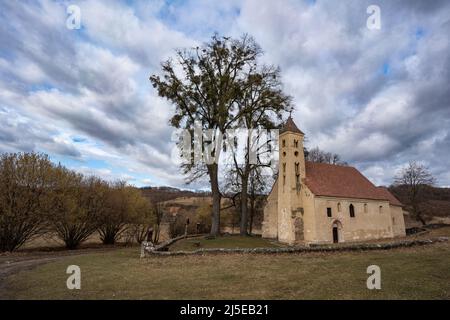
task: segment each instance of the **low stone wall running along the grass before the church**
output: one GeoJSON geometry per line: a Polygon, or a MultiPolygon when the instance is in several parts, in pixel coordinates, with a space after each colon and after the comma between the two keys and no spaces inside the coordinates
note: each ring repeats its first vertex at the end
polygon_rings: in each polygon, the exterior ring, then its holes
{"type": "MultiPolygon", "coordinates": [[[[181,238],[183,239],[184,236],[181,238]]],[[[343,251],[367,251],[367,250],[389,250],[395,248],[405,248],[413,246],[422,246],[438,242],[447,242],[448,237],[438,237],[424,240],[402,240],[389,243],[370,243],[370,244],[349,244],[342,246],[335,245],[320,245],[314,247],[307,246],[297,246],[297,247],[286,247],[286,248],[236,248],[236,249],[197,249],[194,251],[158,251],[144,250],[144,255],[159,255],[159,256],[180,256],[180,255],[203,255],[208,253],[262,253],[262,254],[276,254],[276,253],[308,253],[308,252],[343,252],[343,251]]],[[[180,240],[179,238],[171,239],[173,242],[180,240]]],[[[171,243],[173,243],[171,242],[171,243]]]]}

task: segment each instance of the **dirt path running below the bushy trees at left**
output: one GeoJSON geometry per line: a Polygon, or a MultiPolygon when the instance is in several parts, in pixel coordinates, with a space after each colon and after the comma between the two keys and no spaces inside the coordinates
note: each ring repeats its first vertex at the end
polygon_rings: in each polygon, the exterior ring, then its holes
{"type": "Polygon", "coordinates": [[[79,249],[74,251],[26,252],[0,255],[0,300],[8,299],[8,278],[18,272],[31,270],[56,260],[74,255],[102,253],[117,250],[121,247],[103,249],[79,249]]]}

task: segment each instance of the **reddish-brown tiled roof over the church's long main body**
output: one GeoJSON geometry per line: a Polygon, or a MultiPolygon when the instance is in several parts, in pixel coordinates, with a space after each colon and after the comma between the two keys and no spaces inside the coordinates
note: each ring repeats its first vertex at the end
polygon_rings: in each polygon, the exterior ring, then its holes
{"type": "Polygon", "coordinates": [[[353,167],[306,161],[305,183],[318,196],[388,200],[402,206],[386,188],[376,187],[353,167]]]}

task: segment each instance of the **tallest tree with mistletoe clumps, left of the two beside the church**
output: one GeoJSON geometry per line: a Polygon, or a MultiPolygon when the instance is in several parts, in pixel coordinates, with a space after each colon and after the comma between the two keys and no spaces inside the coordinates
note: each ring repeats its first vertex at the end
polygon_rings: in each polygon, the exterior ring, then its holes
{"type": "MultiPolygon", "coordinates": [[[[175,106],[171,125],[193,130],[195,124],[202,130],[211,130],[211,136],[223,135],[236,126],[245,109],[238,99],[248,90],[248,74],[256,67],[261,49],[253,38],[240,39],[214,35],[201,47],[177,50],[176,57],[162,64],[162,77],[152,75],[150,81],[161,97],[175,106]]],[[[202,150],[211,146],[212,139],[204,140],[202,150]]],[[[211,235],[220,233],[220,200],[218,158],[222,145],[211,147],[213,161],[189,161],[183,167],[191,180],[209,177],[212,204],[211,235]],[[215,161],[214,161],[215,160],[215,161]]]]}

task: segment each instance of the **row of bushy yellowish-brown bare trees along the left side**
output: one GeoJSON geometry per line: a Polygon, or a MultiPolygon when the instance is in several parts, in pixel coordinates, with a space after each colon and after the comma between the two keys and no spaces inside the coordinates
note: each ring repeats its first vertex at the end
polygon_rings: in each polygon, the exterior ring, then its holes
{"type": "Polygon", "coordinates": [[[0,251],[49,233],[68,249],[97,231],[104,244],[124,232],[141,242],[155,222],[150,202],[122,181],[84,176],[39,153],[0,157],[0,251]]]}

